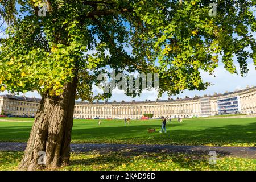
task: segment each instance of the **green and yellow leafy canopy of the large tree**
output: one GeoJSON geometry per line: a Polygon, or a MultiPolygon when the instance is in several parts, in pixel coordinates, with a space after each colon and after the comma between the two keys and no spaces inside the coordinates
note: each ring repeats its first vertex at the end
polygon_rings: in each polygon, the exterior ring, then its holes
{"type": "Polygon", "coordinates": [[[200,71],[256,65],[255,1],[2,0],[8,24],[0,46],[0,88],[59,96],[78,72],[77,98],[93,97],[98,73],[159,73],[159,93],[204,90],[200,71]],[[46,16],[39,16],[47,6],[46,16]],[[254,8],[254,9],[253,9],[254,8]],[[251,51],[249,51],[251,49],[251,51]]]}

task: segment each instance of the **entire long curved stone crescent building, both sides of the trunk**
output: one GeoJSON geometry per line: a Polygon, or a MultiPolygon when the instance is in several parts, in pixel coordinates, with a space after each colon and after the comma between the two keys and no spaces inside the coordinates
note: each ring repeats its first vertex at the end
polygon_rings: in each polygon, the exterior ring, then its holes
{"type": "MultiPolygon", "coordinates": [[[[34,117],[39,104],[38,98],[10,94],[0,96],[0,111],[11,115],[34,117]]],[[[176,100],[76,102],[73,117],[140,119],[143,114],[153,114],[153,118],[191,118],[237,113],[256,113],[256,86],[224,94],[176,100]]]]}

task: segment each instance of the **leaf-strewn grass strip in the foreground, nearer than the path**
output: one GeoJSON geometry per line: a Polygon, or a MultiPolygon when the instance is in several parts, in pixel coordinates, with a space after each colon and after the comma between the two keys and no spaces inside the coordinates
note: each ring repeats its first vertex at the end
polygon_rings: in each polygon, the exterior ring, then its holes
{"type": "MultiPolygon", "coordinates": [[[[23,152],[0,152],[0,171],[16,170],[23,152]]],[[[256,170],[256,159],[218,157],[210,165],[208,155],[187,154],[84,154],[72,153],[71,165],[59,170],[256,170]]]]}

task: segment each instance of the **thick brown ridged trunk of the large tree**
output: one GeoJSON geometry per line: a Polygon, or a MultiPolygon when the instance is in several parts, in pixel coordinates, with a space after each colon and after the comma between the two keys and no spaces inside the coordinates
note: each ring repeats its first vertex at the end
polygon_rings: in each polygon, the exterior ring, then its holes
{"type": "Polygon", "coordinates": [[[76,84],[77,76],[64,86],[61,96],[42,96],[19,169],[55,169],[69,164],[76,84]],[[42,164],[44,152],[46,163],[42,164]]]}

